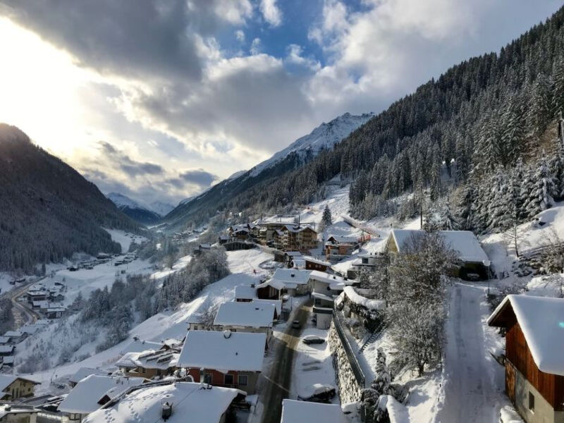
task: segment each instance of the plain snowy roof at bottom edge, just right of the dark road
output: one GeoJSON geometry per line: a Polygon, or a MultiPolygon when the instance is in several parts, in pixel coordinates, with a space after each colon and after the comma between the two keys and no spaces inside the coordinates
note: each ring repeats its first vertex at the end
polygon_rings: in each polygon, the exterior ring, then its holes
{"type": "Polygon", "coordinates": [[[308,401],[283,400],[280,423],[346,423],[338,404],[309,403],[308,401]]]}

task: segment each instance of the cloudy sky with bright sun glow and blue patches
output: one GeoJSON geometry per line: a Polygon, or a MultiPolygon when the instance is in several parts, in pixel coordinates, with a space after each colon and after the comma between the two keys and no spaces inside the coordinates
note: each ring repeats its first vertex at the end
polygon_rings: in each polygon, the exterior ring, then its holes
{"type": "Polygon", "coordinates": [[[0,0],[0,122],[178,203],[498,51],[556,0],[0,0]]]}

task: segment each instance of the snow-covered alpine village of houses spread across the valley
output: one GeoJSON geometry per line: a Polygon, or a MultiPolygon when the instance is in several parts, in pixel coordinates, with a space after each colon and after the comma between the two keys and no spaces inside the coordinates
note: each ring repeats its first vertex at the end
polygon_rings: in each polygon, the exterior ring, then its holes
{"type": "MultiPolygon", "coordinates": [[[[338,204],[333,207],[338,209],[338,204]]],[[[313,220],[322,211],[322,207],[308,207],[302,214],[312,215],[313,220]]],[[[154,322],[141,324],[131,331],[129,341],[100,355],[104,360],[94,360],[94,355],[84,365],[78,362],[56,372],[18,374],[13,370],[14,354],[24,348],[27,338],[73,312],[70,299],[65,299],[69,288],[57,277],[18,282],[25,283],[25,289],[17,290],[16,301],[30,313],[30,320],[0,337],[1,421],[102,422],[110,418],[126,422],[138,418],[180,422],[190,415],[198,422],[372,422],[363,392],[377,376],[375,366],[382,349],[390,344],[383,320],[386,301],[361,286],[362,275],[376,272],[424,231],[415,228],[416,221],[386,231],[343,216],[319,231],[319,221],[296,220],[300,216],[236,224],[220,234],[215,245],[198,245],[192,255],[224,247],[233,273],[225,282],[210,286],[207,300],[172,314],[174,323],[159,329],[160,334],[154,333],[154,322]],[[214,285],[221,294],[215,293],[214,285]]],[[[476,310],[484,315],[480,302],[498,278],[499,264],[493,263],[499,261],[498,252],[484,250],[469,231],[440,231],[439,235],[456,255],[449,275],[454,281],[451,307],[463,308],[460,295],[475,306],[468,316],[456,319],[465,319],[476,310]]],[[[183,237],[177,240],[182,242],[183,237]]],[[[95,272],[98,266],[106,266],[108,271],[117,268],[111,272],[118,276],[122,266],[132,262],[145,265],[134,254],[109,257],[101,253],[90,262],[57,273],[80,276],[92,271],[90,267],[95,272]]],[[[132,270],[135,268],[128,269],[132,270]]],[[[527,419],[533,412],[546,422],[560,421],[564,361],[558,351],[564,345],[539,335],[536,328],[561,328],[562,302],[560,298],[508,295],[482,317],[490,329],[484,326],[483,338],[474,339],[477,345],[467,353],[479,355],[472,361],[488,367],[482,371],[494,374],[492,377],[505,374],[507,397],[499,387],[490,392],[501,402],[503,422],[541,421],[527,419]],[[497,350],[490,349],[492,355],[487,359],[485,343],[494,328],[507,333],[507,346],[500,353],[503,338],[495,336],[492,345],[497,350]]],[[[479,315],[472,317],[482,331],[479,315]]],[[[448,332],[457,321],[449,319],[448,332]]],[[[448,360],[450,348],[462,345],[448,341],[445,370],[460,365],[458,358],[454,363],[448,360]]],[[[412,379],[405,372],[393,377],[412,379]]],[[[458,401],[450,404],[453,397],[445,389],[465,382],[463,374],[447,378],[434,373],[425,384],[413,385],[403,404],[388,396],[388,419],[417,421],[417,412],[435,407],[438,398],[419,403],[411,400],[415,407],[408,398],[428,393],[427,385],[433,384],[430,391],[443,402],[443,417],[458,421],[449,413],[463,416],[469,410],[458,401]],[[444,383],[449,387],[441,386],[444,383]]],[[[405,386],[410,383],[414,382],[405,386]]],[[[470,395],[472,390],[459,386],[456,393],[470,395]]],[[[469,406],[474,404],[470,401],[469,406]]]]}

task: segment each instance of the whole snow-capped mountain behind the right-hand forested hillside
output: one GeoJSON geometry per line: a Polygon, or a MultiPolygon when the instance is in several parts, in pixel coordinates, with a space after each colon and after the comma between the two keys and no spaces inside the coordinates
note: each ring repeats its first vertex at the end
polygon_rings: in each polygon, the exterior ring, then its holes
{"type": "Polygon", "coordinates": [[[221,204],[236,195],[262,183],[269,178],[276,178],[293,171],[317,157],[321,152],[331,150],[353,130],[369,121],[373,114],[351,115],[345,113],[329,123],[321,123],[311,133],[298,138],[285,149],[274,154],[249,171],[234,173],[212,188],[195,197],[187,198],[178,204],[163,221],[167,228],[177,230],[190,219],[204,222],[215,214],[221,204]]]}

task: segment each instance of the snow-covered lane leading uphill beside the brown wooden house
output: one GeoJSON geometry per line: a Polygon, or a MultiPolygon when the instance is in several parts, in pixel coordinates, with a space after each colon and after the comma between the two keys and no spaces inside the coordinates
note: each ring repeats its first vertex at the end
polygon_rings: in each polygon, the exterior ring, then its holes
{"type": "Polygon", "coordinates": [[[485,348],[482,317],[488,310],[480,304],[484,290],[458,283],[451,295],[446,324],[445,398],[436,422],[496,423],[501,392],[494,386],[494,373],[501,367],[485,348]]]}

